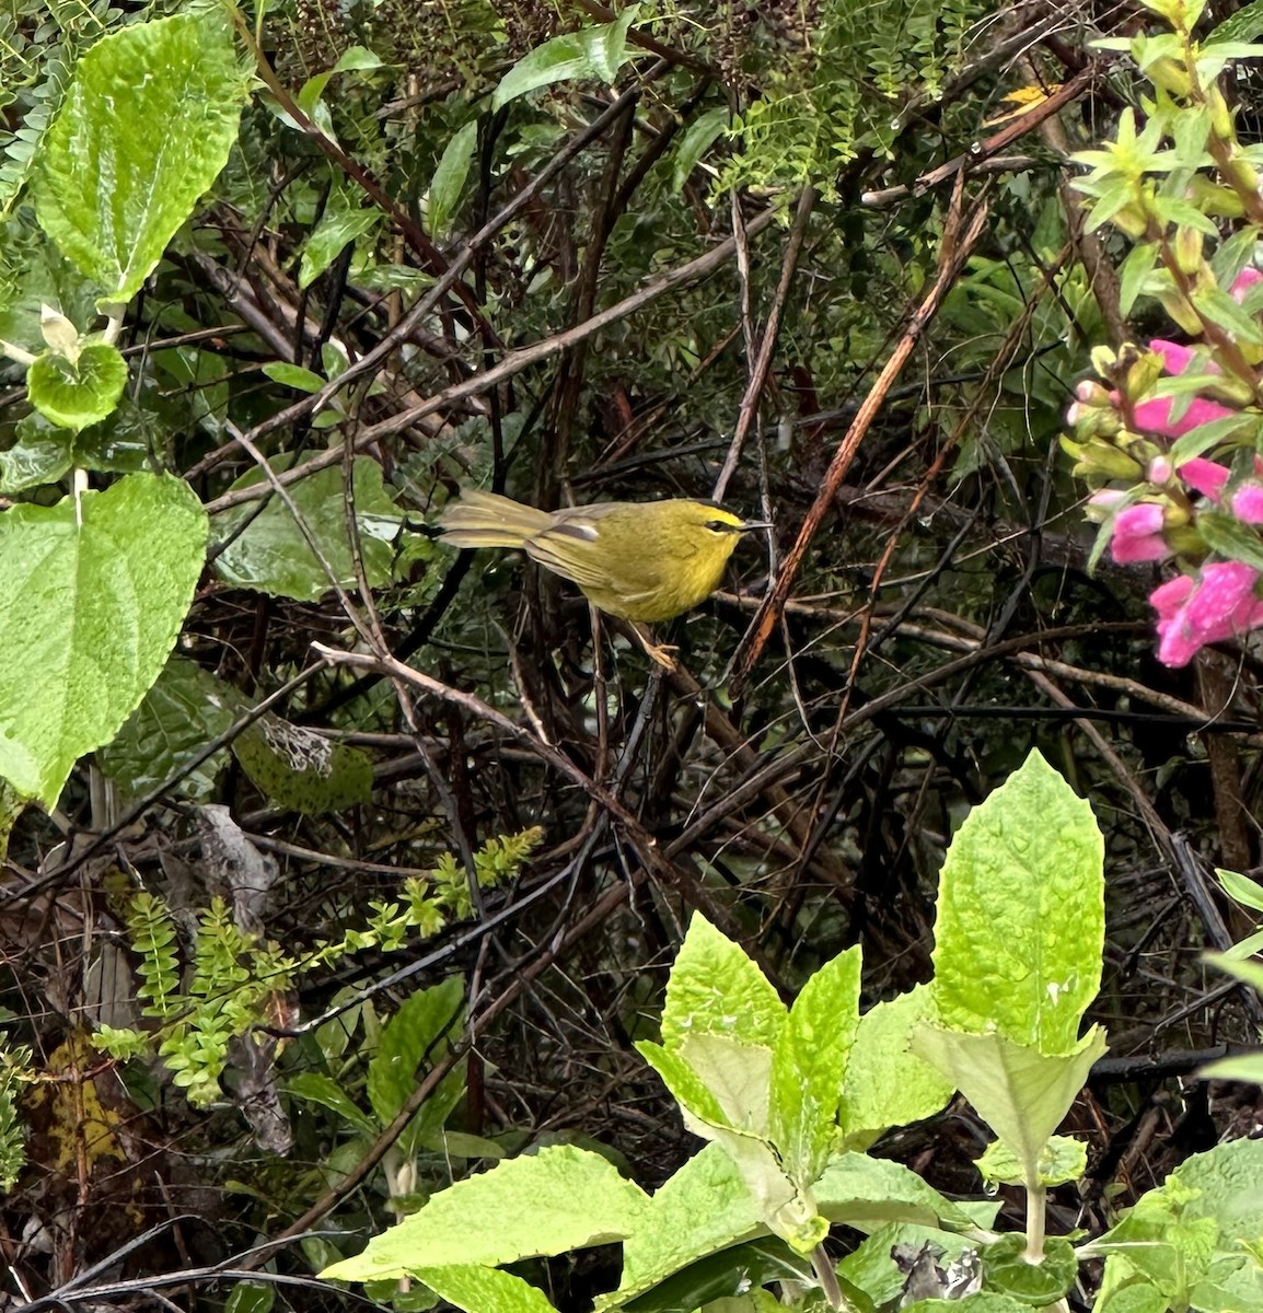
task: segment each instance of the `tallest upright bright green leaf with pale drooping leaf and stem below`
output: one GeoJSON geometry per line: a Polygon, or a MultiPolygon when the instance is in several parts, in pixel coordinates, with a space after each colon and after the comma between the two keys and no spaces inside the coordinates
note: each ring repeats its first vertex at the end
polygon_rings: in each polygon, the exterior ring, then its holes
{"type": "MultiPolygon", "coordinates": [[[[969,814],[948,851],[935,922],[936,1025],[914,1052],[974,1106],[1042,1200],[1044,1157],[1105,1052],[1083,1012],[1100,986],[1104,840],[1091,806],[1032,752],[969,814]]],[[[1065,1179],[1063,1176],[1061,1179],[1065,1179]]],[[[1029,1209],[1033,1222],[1042,1204],[1029,1209]]],[[[1028,1233],[1028,1255],[1044,1249],[1028,1233]]]]}

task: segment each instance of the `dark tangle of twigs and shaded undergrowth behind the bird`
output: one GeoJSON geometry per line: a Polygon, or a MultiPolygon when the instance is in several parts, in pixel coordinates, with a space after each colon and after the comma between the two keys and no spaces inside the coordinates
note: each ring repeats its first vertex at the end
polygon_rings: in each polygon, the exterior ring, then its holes
{"type": "MultiPolygon", "coordinates": [[[[46,121],[74,58],[154,12],[18,4],[4,20],[9,129],[46,121]]],[[[1098,1019],[1113,1066],[1078,1109],[1077,1129],[1094,1144],[1087,1195],[1058,1201],[1066,1228],[1091,1226],[1107,1192],[1130,1197],[1230,1124],[1250,1129],[1254,1116],[1249,1100],[1212,1104],[1205,1086],[1176,1078],[1196,1065],[1186,1050],[1252,1033],[1246,1001],[1208,979],[1197,955],[1243,928],[1216,907],[1208,865],[1258,861],[1258,659],[1233,650],[1188,671],[1154,664],[1144,605],[1153,578],[1108,566],[1087,574],[1088,530],[1056,450],[1088,348],[1121,330],[1109,274],[1117,252],[1084,238],[1065,151],[1107,133],[1132,96],[1126,72],[1087,39],[1128,30],[1138,16],[1042,0],[995,12],[919,0],[670,8],[645,29],[655,45],[614,91],[565,85],[482,119],[454,230],[436,246],[419,198],[457,127],[528,50],[608,17],[599,4],[563,0],[272,7],[264,46],[291,91],[356,45],[385,67],[331,84],[336,150],[256,98],[215,194],[131,307],[122,344],[139,381],[134,402],[211,504],[251,467],[234,432],[299,399],[264,364],[320,369],[330,344],[358,358],[391,341],[382,386],[351,394],[340,432],[385,425],[370,454],[420,521],[460,483],[487,478],[545,507],[709,495],[782,301],[772,368],[726,492],[731,506],[776,521],[771,555],[743,548],[731,591],[674,628],[679,675],[651,675],[625,642],[612,649],[608,622],[593,664],[582,599],[520,562],[423,548],[375,597],[393,653],[546,738],[639,829],[612,822],[572,777],[458,701],[408,695],[410,725],[389,681],[323,671],[282,710],[372,751],[372,804],[305,818],[277,811],[231,765],[218,784],[219,801],[280,863],[268,932],[311,943],[369,898],[389,898],[391,868],[424,868],[444,851],[542,825],[545,847],[526,874],[481,910],[499,914],[494,928],[453,927],[450,952],[414,982],[463,972],[473,1016],[494,1014],[467,1058],[470,1094],[453,1124],[509,1144],[593,1137],[651,1186],[688,1146],[630,1039],[651,1024],[689,913],[705,907],[785,990],[853,943],[864,947],[872,999],[905,989],[928,972],[935,877],[953,826],[1038,746],[1092,798],[1108,844],[1098,1019]],[[977,148],[1000,130],[991,119],[1004,114],[1007,92],[1075,77],[1079,95],[1058,117],[1003,150],[977,148]],[[402,332],[419,289],[617,95],[608,125],[477,249],[460,294],[402,332]],[[672,152],[716,106],[748,131],[722,140],[677,192],[672,152]],[[952,161],[965,165],[954,198],[943,171],[952,161]],[[305,239],[330,206],[366,205],[358,184],[368,176],[394,213],[377,214],[301,289],[305,239]],[[796,210],[807,183],[818,193],[810,214],[796,210]],[[756,600],[935,278],[953,205],[983,200],[982,236],[867,433],[784,622],[734,696],[729,663],[756,600]],[[769,209],[777,222],[759,227],[769,209]],[[739,243],[740,259],[541,353],[498,387],[389,423],[507,352],[651,288],[727,238],[734,219],[738,231],[756,230],[739,243]],[[802,248],[781,298],[794,236],[802,248]],[[547,895],[528,905],[547,881],[547,895]]],[[[1249,83],[1242,95],[1252,100],[1249,83]]],[[[18,140],[0,184],[21,163],[18,140]]],[[[20,390],[4,400],[0,433],[11,436],[20,390]]],[[[272,456],[320,449],[328,435],[299,408],[260,440],[272,456]]],[[[207,574],[182,649],[261,696],[309,667],[314,638],[351,641],[332,596],[298,604],[207,574]]],[[[114,958],[119,979],[98,979],[100,945],[119,941],[110,869],[169,892],[172,859],[196,872],[200,853],[176,788],[76,863],[84,835],[118,815],[93,798],[98,783],[84,764],[55,817],[25,815],[4,876],[12,1036],[64,1078],[54,1088],[66,1094],[29,1100],[32,1166],[5,1200],[0,1250],[18,1304],[150,1226],[159,1233],[119,1271],[232,1259],[281,1236],[318,1199],[335,1230],[389,1221],[377,1178],[326,1197],[332,1117],[289,1109],[294,1148],[277,1157],[252,1142],[235,1107],[192,1112],[156,1074],[133,1071],[125,1083],[83,1048],[85,1010],[110,990],[134,990],[125,957],[114,958]],[[113,1155],[84,1149],[97,1103],[123,1127],[113,1155]],[[175,1221],[189,1213],[210,1224],[175,1221]]],[[[368,955],[310,981],[288,1001],[289,1015],[319,1015],[337,989],[372,985],[407,958],[368,955]]],[[[379,1010],[407,987],[385,990],[379,1010]]],[[[284,1073],[320,1054],[309,1036],[276,1060],[284,1073]]],[[[890,1152],[972,1191],[978,1136],[957,1107],[895,1137],[890,1152]]],[[[458,1170],[432,1169],[431,1184],[458,1170]]],[[[309,1242],[277,1262],[303,1272],[326,1254],[309,1242]]],[[[600,1263],[553,1274],[562,1306],[600,1285],[600,1263]]],[[[294,1296],[316,1297],[336,1301],[327,1291],[294,1296]]]]}

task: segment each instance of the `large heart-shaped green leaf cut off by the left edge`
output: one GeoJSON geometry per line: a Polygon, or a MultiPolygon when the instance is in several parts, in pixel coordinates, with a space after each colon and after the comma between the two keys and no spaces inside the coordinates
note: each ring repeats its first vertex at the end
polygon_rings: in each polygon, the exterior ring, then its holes
{"type": "Polygon", "coordinates": [[[51,807],[75,760],[108,743],[158,678],[206,553],[181,479],[0,515],[0,775],[51,807]]]}

